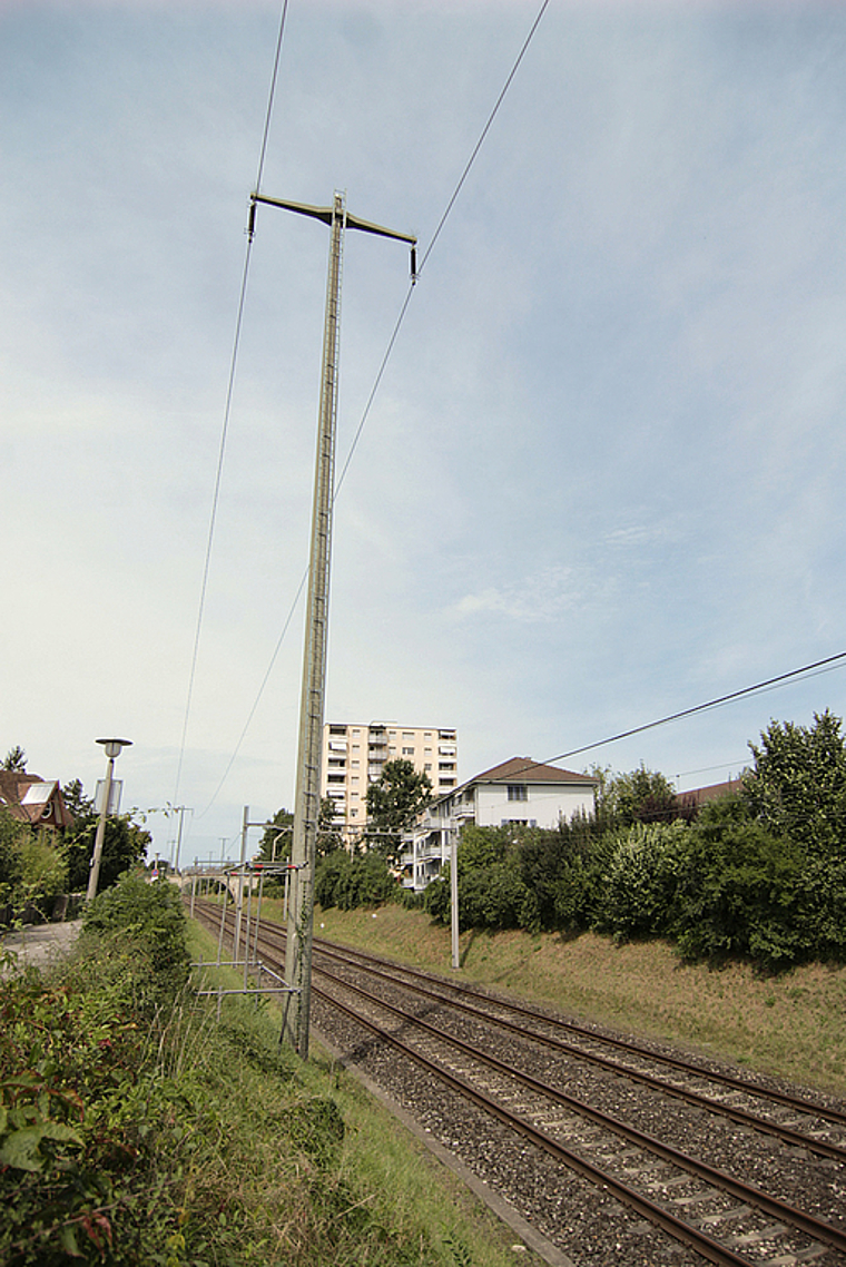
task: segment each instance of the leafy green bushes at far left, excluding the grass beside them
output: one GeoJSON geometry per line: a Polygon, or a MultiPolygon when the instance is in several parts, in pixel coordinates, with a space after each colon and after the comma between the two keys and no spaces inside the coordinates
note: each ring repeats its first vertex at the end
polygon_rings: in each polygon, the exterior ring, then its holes
{"type": "Polygon", "coordinates": [[[127,877],[86,911],[63,977],[29,971],[0,983],[9,1267],[182,1261],[168,1245],[180,1235],[184,1139],[163,1074],[187,965],[179,895],[127,877]]]}

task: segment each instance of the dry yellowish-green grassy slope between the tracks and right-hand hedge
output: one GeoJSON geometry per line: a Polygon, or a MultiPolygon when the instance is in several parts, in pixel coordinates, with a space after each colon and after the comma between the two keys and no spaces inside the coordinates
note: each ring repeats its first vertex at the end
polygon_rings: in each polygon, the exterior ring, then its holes
{"type": "MultiPolygon", "coordinates": [[[[418,911],[318,911],[315,933],[451,972],[448,929],[418,911]]],[[[745,964],[683,964],[661,943],[524,933],[462,934],[461,963],[470,981],[846,1096],[846,967],[761,977],[745,964]]]]}

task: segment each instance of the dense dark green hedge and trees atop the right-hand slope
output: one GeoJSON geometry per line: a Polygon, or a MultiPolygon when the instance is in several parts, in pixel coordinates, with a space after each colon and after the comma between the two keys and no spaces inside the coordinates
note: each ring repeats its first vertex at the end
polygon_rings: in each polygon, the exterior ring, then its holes
{"type": "MultiPolygon", "coordinates": [[[[555,831],[465,829],[464,929],[616,941],[666,938],[690,959],[767,971],[846,958],[846,749],[840,720],[771,722],[740,791],[698,815],[643,767],[603,779],[597,813],[555,831]]],[[[446,922],[447,874],[426,891],[446,922]]]]}

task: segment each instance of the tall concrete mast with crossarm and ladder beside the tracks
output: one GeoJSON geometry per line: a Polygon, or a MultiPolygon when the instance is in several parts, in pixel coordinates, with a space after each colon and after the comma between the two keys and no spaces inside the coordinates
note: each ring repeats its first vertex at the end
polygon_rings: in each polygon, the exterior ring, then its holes
{"type": "Polygon", "coordinates": [[[395,233],[350,215],[343,194],[336,193],[332,207],[306,207],[279,198],[253,194],[248,233],[252,239],[256,204],[281,207],[300,215],[323,220],[332,231],[329,275],[323,328],[323,371],[318,414],[318,445],[314,468],[314,506],[309,592],[305,616],[303,688],[300,696],[300,735],[296,759],[296,796],[291,844],[291,889],[287,911],[285,981],[295,988],[286,996],[281,1040],[306,1059],[309,1054],[309,1014],[312,1006],[312,938],[314,927],[314,860],[320,808],[320,745],[323,737],[323,698],[325,692],[325,649],[328,632],[329,556],[332,549],[332,497],[334,478],[334,437],[338,402],[338,318],[341,310],[341,264],[346,228],[362,229],[380,237],[398,238],[412,246],[412,277],[415,272],[417,238],[395,233]]]}

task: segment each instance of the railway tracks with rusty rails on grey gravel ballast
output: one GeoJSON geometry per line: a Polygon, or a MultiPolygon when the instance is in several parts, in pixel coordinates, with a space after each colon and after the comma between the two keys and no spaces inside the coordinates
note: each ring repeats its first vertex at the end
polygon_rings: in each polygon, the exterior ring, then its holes
{"type": "MultiPolygon", "coordinates": [[[[219,929],[220,907],[195,914],[219,929]]],[[[274,965],[284,930],[265,924],[274,965]]],[[[580,1264],[846,1264],[846,1111],[315,940],[315,1024],[580,1264]]]]}

